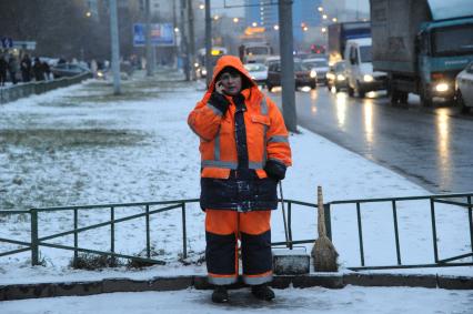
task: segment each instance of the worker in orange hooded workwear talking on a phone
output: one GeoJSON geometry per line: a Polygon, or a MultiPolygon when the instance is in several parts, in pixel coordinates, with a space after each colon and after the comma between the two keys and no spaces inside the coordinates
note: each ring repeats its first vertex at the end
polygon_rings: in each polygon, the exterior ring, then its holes
{"type": "Polygon", "coordinates": [[[278,182],[291,165],[282,114],[240,59],[224,55],[188,123],[200,138],[200,205],[208,278],[215,286],[212,301],[229,301],[227,286],[239,275],[239,240],[244,283],[255,297],[270,301],[271,211],[278,207],[278,182]]]}

